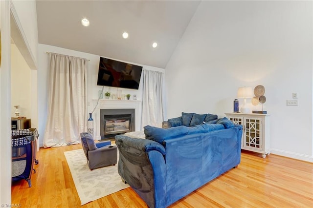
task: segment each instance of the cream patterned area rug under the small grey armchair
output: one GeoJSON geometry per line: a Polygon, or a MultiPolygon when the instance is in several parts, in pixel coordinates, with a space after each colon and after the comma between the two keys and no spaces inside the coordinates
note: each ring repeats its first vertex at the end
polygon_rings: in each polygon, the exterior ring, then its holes
{"type": "MultiPolygon", "coordinates": [[[[115,166],[90,170],[83,149],[64,152],[81,205],[129,187],[124,184],[115,166]]],[[[118,161],[118,152],[117,152],[118,161]]]]}

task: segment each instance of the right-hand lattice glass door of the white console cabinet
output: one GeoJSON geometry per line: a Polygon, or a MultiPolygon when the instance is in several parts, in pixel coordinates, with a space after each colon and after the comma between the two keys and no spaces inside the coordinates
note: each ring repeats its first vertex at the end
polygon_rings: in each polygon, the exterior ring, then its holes
{"type": "Polygon", "coordinates": [[[258,118],[245,118],[244,146],[262,149],[262,120],[258,118]]]}

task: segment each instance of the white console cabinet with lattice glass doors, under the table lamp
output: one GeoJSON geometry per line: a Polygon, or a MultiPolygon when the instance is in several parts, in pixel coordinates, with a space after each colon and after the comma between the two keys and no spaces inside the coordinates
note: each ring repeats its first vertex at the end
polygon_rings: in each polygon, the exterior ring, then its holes
{"type": "Polygon", "coordinates": [[[269,115],[256,113],[225,113],[233,124],[243,125],[241,148],[269,155],[269,115]]]}

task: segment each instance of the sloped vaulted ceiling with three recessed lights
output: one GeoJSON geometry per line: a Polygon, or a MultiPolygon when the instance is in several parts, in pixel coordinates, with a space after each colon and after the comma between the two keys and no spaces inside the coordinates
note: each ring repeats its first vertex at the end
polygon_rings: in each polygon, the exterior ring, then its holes
{"type": "Polygon", "coordinates": [[[37,0],[39,43],[165,68],[199,3],[37,0]],[[83,18],[89,19],[88,27],[81,24],[83,18]],[[123,32],[129,33],[128,39],[122,38],[123,32]]]}

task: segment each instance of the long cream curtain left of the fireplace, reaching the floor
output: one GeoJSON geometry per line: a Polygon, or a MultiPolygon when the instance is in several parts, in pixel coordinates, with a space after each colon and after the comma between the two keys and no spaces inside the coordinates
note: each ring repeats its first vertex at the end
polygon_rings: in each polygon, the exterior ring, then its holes
{"type": "Polygon", "coordinates": [[[87,129],[87,61],[49,53],[45,148],[80,143],[87,129]]]}

